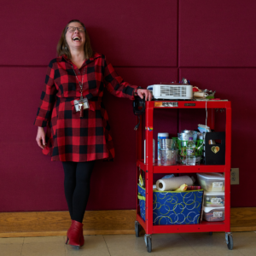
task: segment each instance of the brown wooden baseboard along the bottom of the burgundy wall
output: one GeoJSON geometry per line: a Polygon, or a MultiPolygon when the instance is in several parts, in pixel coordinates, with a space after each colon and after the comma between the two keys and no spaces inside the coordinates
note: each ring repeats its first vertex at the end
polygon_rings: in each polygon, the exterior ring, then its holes
{"type": "MultiPolygon", "coordinates": [[[[230,229],[256,230],[256,207],[231,208],[230,229]]],[[[136,210],[88,211],[84,235],[135,234],[136,210]]],[[[0,237],[66,236],[68,212],[0,212],[0,237]]]]}

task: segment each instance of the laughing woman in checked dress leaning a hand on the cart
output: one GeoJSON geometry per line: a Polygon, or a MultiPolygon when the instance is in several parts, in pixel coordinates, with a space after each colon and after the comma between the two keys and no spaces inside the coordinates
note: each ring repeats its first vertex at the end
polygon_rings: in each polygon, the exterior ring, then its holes
{"type": "Polygon", "coordinates": [[[84,245],[82,222],[95,161],[114,157],[103,90],[107,87],[114,96],[130,100],[138,95],[150,101],[152,95],[124,82],[104,55],[92,51],[88,33],[79,20],[71,20],[64,28],[57,54],[49,62],[34,124],[38,126],[36,141],[43,153],[62,162],[72,219],[67,242],[79,248],[84,245]]]}

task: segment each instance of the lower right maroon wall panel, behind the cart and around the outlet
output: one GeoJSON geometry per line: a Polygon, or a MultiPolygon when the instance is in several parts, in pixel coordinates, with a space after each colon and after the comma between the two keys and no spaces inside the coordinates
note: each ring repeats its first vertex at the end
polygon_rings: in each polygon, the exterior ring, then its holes
{"type": "MultiPolygon", "coordinates": [[[[256,207],[252,200],[254,181],[256,179],[253,158],[255,154],[256,120],[255,106],[255,69],[254,68],[182,68],[181,76],[190,79],[190,83],[200,88],[216,90],[215,96],[228,99],[232,104],[232,147],[231,167],[239,168],[240,184],[231,185],[231,207],[256,207]],[[246,82],[248,81],[249,82],[246,82]]],[[[217,113],[216,131],[224,131],[218,121],[224,119],[225,113],[217,113]]],[[[181,122],[185,127],[193,124],[193,118],[182,113],[181,122]]],[[[199,117],[195,116],[198,124],[199,117]]],[[[205,119],[205,111],[201,112],[201,121],[205,119]]],[[[195,127],[196,128],[196,127],[195,127]]]]}

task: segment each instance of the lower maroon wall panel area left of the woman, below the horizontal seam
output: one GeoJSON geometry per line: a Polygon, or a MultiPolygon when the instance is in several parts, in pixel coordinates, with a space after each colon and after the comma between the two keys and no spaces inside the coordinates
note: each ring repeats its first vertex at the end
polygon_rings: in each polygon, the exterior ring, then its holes
{"type": "Polygon", "coordinates": [[[46,67],[1,67],[0,211],[63,209],[61,163],[36,147],[33,126],[46,67]],[[13,102],[13,103],[11,103],[13,102]]]}

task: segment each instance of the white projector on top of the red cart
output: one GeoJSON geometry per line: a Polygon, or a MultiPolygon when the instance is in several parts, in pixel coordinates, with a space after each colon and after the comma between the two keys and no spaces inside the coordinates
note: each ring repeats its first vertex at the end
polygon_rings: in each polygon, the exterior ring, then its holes
{"type": "Polygon", "coordinates": [[[153,84],[148,90],[155,100],[192,100],[193,86],[190,84],[153,84]]]}

